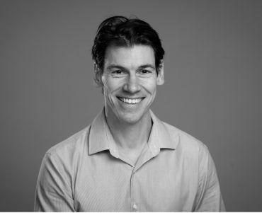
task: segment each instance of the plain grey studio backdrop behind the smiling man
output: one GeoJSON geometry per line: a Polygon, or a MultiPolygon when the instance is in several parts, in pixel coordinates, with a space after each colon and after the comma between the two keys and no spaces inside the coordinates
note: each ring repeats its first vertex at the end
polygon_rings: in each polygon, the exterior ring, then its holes
{"type": "Polygon", "coordinates": [[[102,109],[98,24],[135,15],[166,50],[152,110],[210,149],[228,211],[262,211],[262,1],[0,1],[0,210],[33,211],[45,151],[102,109]]]}

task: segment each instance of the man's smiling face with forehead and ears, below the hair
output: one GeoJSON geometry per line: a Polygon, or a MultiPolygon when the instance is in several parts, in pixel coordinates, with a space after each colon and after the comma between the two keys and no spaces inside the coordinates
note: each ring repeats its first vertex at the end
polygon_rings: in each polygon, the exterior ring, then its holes
{"type": "Polygon", "coordinates": [[[110,46],[101,81],[107,117],[134,124],[149,113],[156,85],[164,84],[164,71],[159,69],[156,74],[154,50],[150,46],[110,46]]]}

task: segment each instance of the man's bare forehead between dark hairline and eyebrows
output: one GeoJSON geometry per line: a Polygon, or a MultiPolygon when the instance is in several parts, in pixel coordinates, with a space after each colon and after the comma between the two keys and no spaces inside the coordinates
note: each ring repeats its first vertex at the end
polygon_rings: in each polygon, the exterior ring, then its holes
{"type": "Polygon", "coordinates": [[[132,47],[110,46],[105,54],[105,68],[118,65],[132,69],[144,64],[155,66],[154,50],[148,45],[134,45],[132,47]]]}

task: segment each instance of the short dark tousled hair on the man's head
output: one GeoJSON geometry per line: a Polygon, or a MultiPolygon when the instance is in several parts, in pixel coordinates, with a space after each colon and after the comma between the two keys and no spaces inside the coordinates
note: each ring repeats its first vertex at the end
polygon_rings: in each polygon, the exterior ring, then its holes
{"type": "Polygon", "coordinates": [[[151,46],[154,50],[156,71],[164,58],[164,49],[158,33],[149,23],[138,18],[113,16],[99,25],[92,47],[92,57],[102,71],[106,49],[111,45],[120,47],[151,46]]]}

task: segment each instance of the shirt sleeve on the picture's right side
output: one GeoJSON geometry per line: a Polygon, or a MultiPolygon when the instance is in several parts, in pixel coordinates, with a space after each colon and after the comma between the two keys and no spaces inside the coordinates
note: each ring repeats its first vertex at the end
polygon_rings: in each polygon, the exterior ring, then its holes
{"type": "Polygon", "coordinates": [[[206,146],[201,156],[199,169],[195,212],[225,212],[215,163],[206,146]]]}

